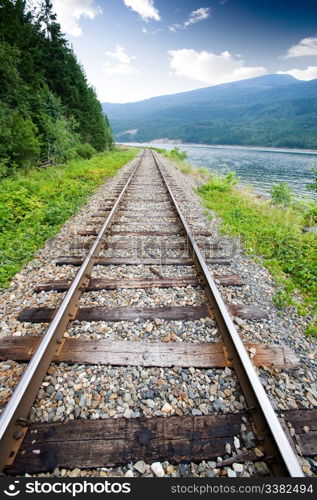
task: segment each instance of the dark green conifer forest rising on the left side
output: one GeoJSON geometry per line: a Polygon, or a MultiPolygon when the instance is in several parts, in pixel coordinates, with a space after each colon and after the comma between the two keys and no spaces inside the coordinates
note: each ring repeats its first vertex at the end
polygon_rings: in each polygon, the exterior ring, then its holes
{"type": "Polygon", "coordinates": [[[107,117],[49,0],[0,4],[0,177],[110,149],[107,117]]]}

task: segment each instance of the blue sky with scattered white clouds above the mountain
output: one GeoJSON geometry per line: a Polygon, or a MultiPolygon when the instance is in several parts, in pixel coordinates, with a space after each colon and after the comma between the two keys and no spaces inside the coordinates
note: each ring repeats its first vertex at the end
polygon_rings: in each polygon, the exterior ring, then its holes
{"type": "Polygon", "coordinates": [[[101,101],[317,78],[317,0],[52,0],[101,101]]]}

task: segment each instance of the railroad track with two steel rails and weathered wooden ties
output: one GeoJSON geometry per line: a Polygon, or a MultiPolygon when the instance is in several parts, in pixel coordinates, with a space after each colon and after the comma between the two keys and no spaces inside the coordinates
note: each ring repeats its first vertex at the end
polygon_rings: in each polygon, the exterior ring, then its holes
{"type": "MultiPolygon", "coordinates": [[[[228,445],[231,448],[236,443],[234,456],[225,459],[222,466],[261,459],[274,476],[303,476],[285,422],[293,422],[293,428],[299,429],[307,421],[307,413],[284,412],[285,418],[278,415],[255,369],[255,365],[296,366],[296,360],[287,349],[243,345],[231,316],[256,320],[265,313],[255,307],[225,305],[215,280],[222,286],[241,286],[243,280],[228,274],[212,277],[210,266],[226,265],[228,259],[215,255],[219,245],[210,242],[208,231],[196,227],[194,238],[179,200],[186,201],[161,158],[145,150],[121,179],[113,198],[93,214],[89,220],[93,227],[80,231],[72,241],[71,249],[76,250],[76,255],[57,261],[58,265],[79,267],[75,278],[52,280],[36,287],[36,292],[65,293],[60,306],[26,308],[20,312],[19,320],[26,324],[49,323],[45,335],[2,340],[1,360],[29,361],[0,419],[0,465],[6,473],[50,472],[56,467],[112,467],[143,459],[197,462],[223,456],[228,445]],[[105,269],[105,277],[92,277],[97,266],[105,269]],[[109,278],[109,266],[111,276],[116,266],[127,269],[140,266],[140,275],[130,277],[127,273],[128,278],[109,278]],[[164,272],[169,268],[179,269],[177,276],[164,272]],[[198,303],[154,307],[140,307],[136,303],[136,307],[128,307],[109,306],[106,300],[102,302],[106,305],[98,302],[98,294],[107,298],[109,290],[161,288],[199,290],[193,294],[198,303]],[[85,298],[89,294],[93,295],[87,306],[85,298]],[[95,322],[125,321],[130,322],[133,330],[140,322],[164,322],[168,328],[169,322],[201,318],[207,325],[208,321],[215,322],[218,342],[180,343],[169,342],[168,338],[161,342],[87,340],[65,334],[73,322],[95,325],[95,322]],[[31,408],[52,362],[176,367],[176,372],[178,367],[229,368],[229,371],[233,368],[245,404],[238,413],[211,414],[207,409],[205,413],[184,415],[181,409],[175,412],[165,403],[162,416],[149,418],[93,417],[31,423],[31,408]],[[255,436],[249,449],[237,445],[241,429],[255,436]]],[[[152,326],[146,328],[151,340],[152,326]]],[[[177,397],[180,402],[188,399],[183,393],[177,397]]],[[[143,410],[147,415],[144,405],[143,410]]],[[[311,454],[315,454],[315,449],[311,454]]]]}

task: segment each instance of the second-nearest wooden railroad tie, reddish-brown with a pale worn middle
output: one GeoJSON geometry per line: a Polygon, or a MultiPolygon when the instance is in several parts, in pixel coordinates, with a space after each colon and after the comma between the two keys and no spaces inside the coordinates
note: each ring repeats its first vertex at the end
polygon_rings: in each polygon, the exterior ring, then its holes
{"type": "MultiPolygon", "coordinates": [[[[0,360],[29,361],[41,336],[6,337],[0,342],[0,360]]],[[[298,358],[287,346],[246,344],[256,366],[296,368],[298,358]]],[[[129,342],[65,338],[56,363],[101,364],[113,366],[159,366],[182,368],[224,368],[232,366],[222,342],[129,342]]]]}

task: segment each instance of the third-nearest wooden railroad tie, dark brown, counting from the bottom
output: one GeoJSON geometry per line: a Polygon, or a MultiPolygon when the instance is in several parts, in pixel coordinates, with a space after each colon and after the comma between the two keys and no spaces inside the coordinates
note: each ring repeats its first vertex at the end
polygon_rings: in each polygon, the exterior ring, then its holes
{"type": "MultiPolygon", "coordinates": [[[[267,312],[256,306],[230,304],[233,316],[257,321],[266,318],[267,312]]],[[[57,309],[49,307],[27,307],[20,312],[18,321],[27,323],[49,323],[57,309]]],[[[169,321],[194,321],[210,317],[208,305],[201,306],[164,306],[164,307],[83,307],[79,308],[77,321],[139,321],[164,319],[169,321]]]]}

